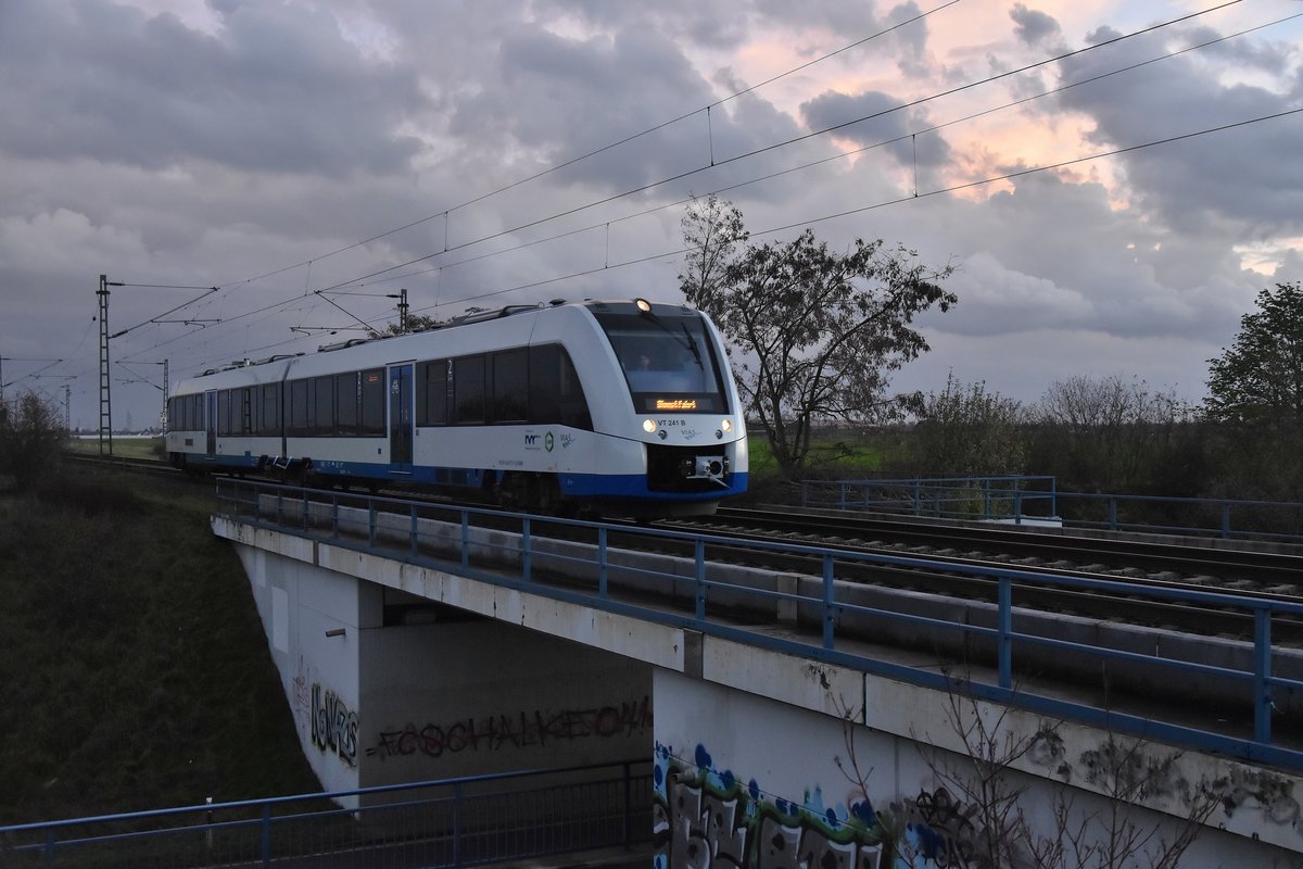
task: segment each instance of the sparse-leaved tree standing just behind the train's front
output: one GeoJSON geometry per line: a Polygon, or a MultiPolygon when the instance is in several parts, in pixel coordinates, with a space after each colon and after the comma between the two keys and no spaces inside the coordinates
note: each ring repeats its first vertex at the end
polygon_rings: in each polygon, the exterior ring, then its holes
{"type": "Polygon", "coordinates": [[[715,197],[692,201],[683,237],[684,297],[737,350],[737,388],[784,477],[805,465],[817,422],[880,421],[917,406],[921,396],[889,392],[890,373],[929,349],[913,318],[958,301],[939,287],[951,267],[928,268],[881,240],[837,253],[809,229],[752,245],[741,212],[715,197]]]}

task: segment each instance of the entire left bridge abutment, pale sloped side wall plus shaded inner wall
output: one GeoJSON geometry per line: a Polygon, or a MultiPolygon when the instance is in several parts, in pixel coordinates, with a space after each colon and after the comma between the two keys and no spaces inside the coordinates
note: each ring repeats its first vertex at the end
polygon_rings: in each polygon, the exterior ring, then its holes
{"type": "Polygon", "coordinates": [[[648,664],[489,619],[386,627],[384,586],[311,546],[236,550],[323,788],[652,756],[648,664]]]}

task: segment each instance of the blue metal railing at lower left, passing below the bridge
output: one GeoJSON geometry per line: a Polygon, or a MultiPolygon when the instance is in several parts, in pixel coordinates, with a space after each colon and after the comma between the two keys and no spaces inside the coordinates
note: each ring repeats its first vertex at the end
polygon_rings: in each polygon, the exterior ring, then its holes
{"type": "Polygon", "coordinates": [[[650,767],[648,758],[0,826],[0,865],[434,868],[631,847],[652,836],[650,767]]]}

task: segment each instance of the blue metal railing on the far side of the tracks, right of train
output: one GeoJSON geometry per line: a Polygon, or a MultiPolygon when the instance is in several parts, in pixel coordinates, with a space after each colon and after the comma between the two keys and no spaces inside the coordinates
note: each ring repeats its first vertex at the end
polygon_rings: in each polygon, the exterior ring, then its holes
{"type": "Polygon", "coordinates": [[[1055,520],[1072,528],[1303,542],[1303,503],[1070,492],[1054,477],[807,479],[801,504],[937,519],[1055,520]]]}

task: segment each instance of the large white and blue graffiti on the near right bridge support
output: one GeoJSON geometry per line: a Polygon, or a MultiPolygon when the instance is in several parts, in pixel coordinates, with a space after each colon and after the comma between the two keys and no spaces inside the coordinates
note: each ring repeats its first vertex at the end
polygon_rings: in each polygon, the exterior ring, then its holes
{"type": "Polygon", "coordinates": [[[685,765],[655,750],[657,869],[885,869],[883,827],[864,800],[823,806],[820,791],[801,804],[714,770],[704,747],[685,765]]]}

